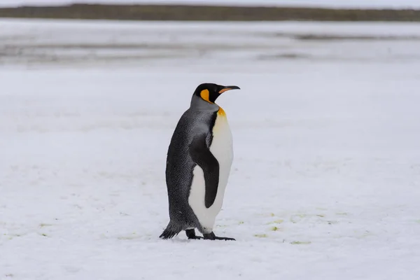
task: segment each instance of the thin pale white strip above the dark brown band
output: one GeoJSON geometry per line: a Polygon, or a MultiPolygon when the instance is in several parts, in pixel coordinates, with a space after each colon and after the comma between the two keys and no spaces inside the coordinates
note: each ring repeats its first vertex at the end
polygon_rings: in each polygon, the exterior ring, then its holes
{"type": "Polygon", "coordinates": [[[0,6],[59,6],[71,3],[169,3],[235,6],[306,6],[328,8],[420,8],[420,1],[418,0],[0,0],[0,6]]]}

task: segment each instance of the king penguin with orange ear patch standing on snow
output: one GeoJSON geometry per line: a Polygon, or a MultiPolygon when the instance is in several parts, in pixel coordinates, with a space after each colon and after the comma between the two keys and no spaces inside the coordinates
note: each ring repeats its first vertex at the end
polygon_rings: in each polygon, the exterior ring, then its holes
{"type": "Polygon", "coordinates": [[[185,230],[188,239],[235,240],[213,232],[233,160],[228,119],[215,102],[235,89],[239,87],[202,83],[176,125],[166,165],[170,221],[162,239],[185,230]],[[195,235],[195,228],[203,237],[195,235]]]}

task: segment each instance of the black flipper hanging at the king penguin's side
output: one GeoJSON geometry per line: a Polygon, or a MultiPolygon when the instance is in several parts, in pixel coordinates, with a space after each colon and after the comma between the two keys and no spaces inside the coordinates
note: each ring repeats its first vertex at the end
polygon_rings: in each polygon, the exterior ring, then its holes
{"type": "Polygon", "coordinates": [[[203,169],[204,181],[206,184],[206,195],[204,205],[210,208],[216,200],[218,178],[219,178],[219,164],[214,155],[209,150],[206,144],[206,134],[200,134],[193,139],[190,144],[190,155],[194,162],[203,169]]]}

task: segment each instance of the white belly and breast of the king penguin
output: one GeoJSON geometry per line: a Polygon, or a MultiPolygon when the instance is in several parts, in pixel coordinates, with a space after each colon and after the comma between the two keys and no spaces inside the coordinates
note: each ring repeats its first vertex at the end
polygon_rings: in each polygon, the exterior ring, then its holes
{"type": "Polygon", "coordinates": [[[204,228],[205,233],[213,231],[216,216],[221,211],[233,160],[232,132],[230,132],[228,120],[224,114],[218,115],[216,123],[214,123],[213,141],[211,141],[210,151],[219,163],[219,183],[216,200],[214,200],[214,204],[211,207],[207,208],[205,206],[206,187],[204,173],[198,165],[193,171],[193,182],[191,184],[190,197],[188,198],[188,203],[204,228]]]}

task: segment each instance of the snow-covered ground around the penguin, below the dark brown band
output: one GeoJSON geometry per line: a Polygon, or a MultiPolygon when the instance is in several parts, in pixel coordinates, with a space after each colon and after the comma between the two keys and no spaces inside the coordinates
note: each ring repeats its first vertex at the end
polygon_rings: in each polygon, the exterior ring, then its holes
{"type": "Polygon", "coordinates": [[[420,25],[0,26],[0,279],[418,279],[420,25]],[[202,82],[241,87],[237,241],[160,240],[202,82]]]}

